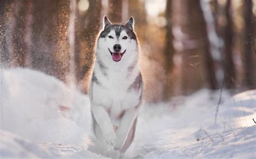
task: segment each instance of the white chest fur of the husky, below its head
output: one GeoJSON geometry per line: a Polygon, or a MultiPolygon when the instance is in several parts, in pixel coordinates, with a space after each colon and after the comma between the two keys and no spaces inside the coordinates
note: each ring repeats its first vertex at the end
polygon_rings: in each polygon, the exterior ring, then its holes
{"type": "Polygon", "coordinates": [[[128,109],[136,106],[139,99],[139,93],[128,91],[129,86],[134,82],[139,70],[134,68],[132,73],[128,74],[127,70],[106,71],[107,76],[103,75],[102,70],[95,66],[95,75],[97,76],[100,85],[93,85],[93,102],[104,105],[107,109],[113,107],[121,107],[121,109],[128,109]]]}

